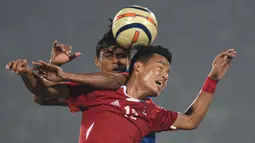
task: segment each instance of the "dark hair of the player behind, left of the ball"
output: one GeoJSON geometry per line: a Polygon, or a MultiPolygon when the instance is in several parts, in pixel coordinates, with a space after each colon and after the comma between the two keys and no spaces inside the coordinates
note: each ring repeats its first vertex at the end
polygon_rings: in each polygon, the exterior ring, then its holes
{"type": "MultiPolygon", "coordinates": [[[[108,31],[103,35],[102,38],[100,38],[98,40],[97,46],[96,46],[96,56],[99,58],[100,56],[100,52],[103,49],[108,49],[110,46],[116,46],[116,47],[120,47],[121,46],[116,42],[113,33],[112,33],[112,19],[109,19],[110,24],[108,25],[108,31]]],[[[124,49],[124,48],[123,48],[124,49]]],[[[124,49],[126,51],[126,49],[124,49]]],[[[130,53],[129,51],[128,54],[130,53]]],[[[129,55],[128,55],[129,56],[129,55]]]]}

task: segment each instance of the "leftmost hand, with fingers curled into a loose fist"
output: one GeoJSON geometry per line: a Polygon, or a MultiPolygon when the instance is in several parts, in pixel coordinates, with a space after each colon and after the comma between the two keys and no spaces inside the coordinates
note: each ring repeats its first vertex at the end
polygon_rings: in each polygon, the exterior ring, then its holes
{"type": "Polygon", "coordinates": [[[32,69],[28,66],[27,60],[25,59],[17,59],[9,62],[6,67],[7,70],[13,71],[19,75],[26,75],[28,72],[32,71],[32,69]]]}

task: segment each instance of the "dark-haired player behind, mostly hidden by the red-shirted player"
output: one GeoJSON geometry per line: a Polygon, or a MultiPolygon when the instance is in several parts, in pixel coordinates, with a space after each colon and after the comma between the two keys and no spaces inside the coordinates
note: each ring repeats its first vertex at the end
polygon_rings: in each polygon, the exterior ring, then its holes
{"type": "MultiPolygon", "coordinates": [[[[109,74],[106,76],[98,75],[98,74],[91,74],[90,79],[81,79],[81,83],[84,80],[88,80],[88,82],[93,80],[94,85],[89,85],[91,87],[98,87],[98,88],[119,88],[122,84],[126,81],[126,76],[122,76],[117,73],[126,72],[129,66],[130,60],[130,51],[121,48],[115,41],[112,31],[111,25],[109,25],[110,29],[107,31],[106,34],[98,41],[96,46],[96,57],[95,57],[95,65],[99,68],[102,74],[109,74]],[[116,73],[116,74],[115,74],[116,73]],[[115,78],[123,79],[122,82],[115,82],[115,78]],[[105,82],[106,81],[106,82],[105,82]]],[[[71,47],[68,45],[64,45],[55,41],[52,47],[52,53],[50,58],[50,63],[61,66],[67,62],[72,61],[76,57],[79,57],[80,53],[76,52],[75,54],[71,55],[71,47]]],[[[18,59],[15,61],[11,61],[7,65],[8,69],[12,69],[19,75],[21,75],[24,83],[26,84],[27,88],[34,93],[34,101],[37,104],[42,106],[68,106],[68,103],[64,99],[47,99],[43,96],[36,96],[36,93],[40,89],[35,89],[29,85],[27,78],[27,74],[32,73],[32,69],[28,67],[26,60],[18,59]]],[[[43,72],[41,72],[43,75],[43,72]]],[[[79,78],[79,77],[78,77],[79,78]]],[[[118,80],[119,81],[119,80],[118,80]]],[[[91,82],[90,82],[91,83],[91,82]]],[[[47,84],[54,84],[52,82],[47,81],[47,84]]],[[[40,91],[41,93],[44,91],[40,91]]],[[[148,136],[144,137],[141,140],[141,143],[155,143],[155,133],[151,133],[148,136]]]]}

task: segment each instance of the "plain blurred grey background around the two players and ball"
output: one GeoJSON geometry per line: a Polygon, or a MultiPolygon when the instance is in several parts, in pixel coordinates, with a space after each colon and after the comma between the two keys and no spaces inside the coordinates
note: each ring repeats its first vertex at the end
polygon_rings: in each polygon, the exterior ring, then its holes
{"type": "MultiPolygon", "coordinates": [[[[238,54],[220,82],[214,102],[198,129],[165,132],[157,143],[252,143],[254,136],[255,1],[253,0],[1,0],[1,143],[76,143],[81,114],[42,107],[5,64],[24,57],[48,60],[53,40],[73,46],[82,56],[66,71],[94,72],[97,38],[108,18],[122,7],[150,8],[159,23],[155,44],[173,52],[172,73],[158,104],[184,111],[196,97],[213,58],[222,50],[238,54]]],[[[110,130],[110,129],[109,129],[110,130]]]]}

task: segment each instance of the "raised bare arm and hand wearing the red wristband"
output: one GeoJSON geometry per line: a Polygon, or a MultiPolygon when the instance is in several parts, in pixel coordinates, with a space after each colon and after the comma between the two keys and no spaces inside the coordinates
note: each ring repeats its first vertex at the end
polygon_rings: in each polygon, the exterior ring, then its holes
{"type": "Polygon", "coordinates": [[[177,129],[192,130],[198,127],[212,102],[219,80],[225,75],[235,56],[234,49],[220,53],[213,61],[212,69],[197,98],[183,114],[179,113],[173,126],[177,129]]]}

